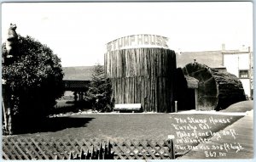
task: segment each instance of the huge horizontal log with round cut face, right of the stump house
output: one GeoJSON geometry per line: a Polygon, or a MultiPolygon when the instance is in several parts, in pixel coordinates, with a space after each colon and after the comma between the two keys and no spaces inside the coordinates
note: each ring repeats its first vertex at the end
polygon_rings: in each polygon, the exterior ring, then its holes
{"type": "Polygon", "coordinates": [[[198,63],[186,64],[183,74],[199,81],[198,109],[226,109],[232,103],[246,100],[241,81],[236,75],[198,63]]]}

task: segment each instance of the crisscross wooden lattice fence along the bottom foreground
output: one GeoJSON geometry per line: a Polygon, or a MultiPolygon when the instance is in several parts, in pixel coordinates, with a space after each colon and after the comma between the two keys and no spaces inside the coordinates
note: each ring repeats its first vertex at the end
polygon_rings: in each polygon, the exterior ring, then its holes
{"type": "Polygon", "coordinates": [[[175,159],[172,140],[3,137],[3,159],[175,159]]]}

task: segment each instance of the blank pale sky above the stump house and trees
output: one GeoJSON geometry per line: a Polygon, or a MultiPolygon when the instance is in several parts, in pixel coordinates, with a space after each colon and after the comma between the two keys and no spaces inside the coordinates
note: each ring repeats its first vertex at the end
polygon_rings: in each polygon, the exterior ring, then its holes
{"type": "Polygon", "coordinates": [[[253,48],[253,3],[3,3],[9,24],[61,58],[63,67],[103,64],[107,43],[137,34],[168,37],[176,52],[253,48]]]}

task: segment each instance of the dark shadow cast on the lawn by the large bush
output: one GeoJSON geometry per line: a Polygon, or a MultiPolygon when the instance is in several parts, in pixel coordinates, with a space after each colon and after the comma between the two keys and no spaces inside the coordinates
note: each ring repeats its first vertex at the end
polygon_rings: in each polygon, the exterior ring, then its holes
{"type": "MultiPolygon", "coordinates": [[[[95,118],[90,117],[71,117],[71,116],[61,116],[54,118],[46,118],[44,120],[39,120],[37,122],[27,123],[26,126],[22,128],[17,128],[15,134],[25,134],[25,133],[36,133],[36,132],[48,132],[48,131],[61,131],[67,128],[74,127],[85,127],[95,118]]],[[[23,125],[24,125],[23,120],[23,125]]]]}

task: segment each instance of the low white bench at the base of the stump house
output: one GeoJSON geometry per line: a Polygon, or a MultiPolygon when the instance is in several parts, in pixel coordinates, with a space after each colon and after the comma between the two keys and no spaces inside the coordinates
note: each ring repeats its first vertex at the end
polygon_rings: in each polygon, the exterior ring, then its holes
{"type": "Polygon", "coordinates": [[[142,112],[142,104],[141,103],[115,104],[113,110],[119,111],[119,112],[142,112]]]}

